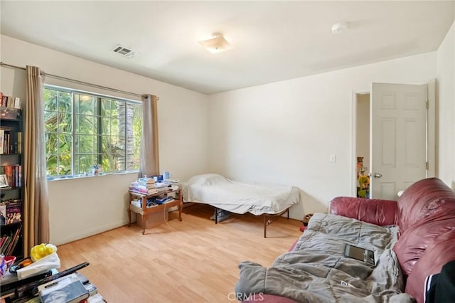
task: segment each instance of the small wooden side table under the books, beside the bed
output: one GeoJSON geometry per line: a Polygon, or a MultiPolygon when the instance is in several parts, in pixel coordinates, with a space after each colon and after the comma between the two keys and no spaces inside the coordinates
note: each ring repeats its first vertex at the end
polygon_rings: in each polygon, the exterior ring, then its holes
{"type": "Polygon", "coordinates": [[[168,191],[160,191],[159,193],[153,193],[151,195],[146,195],[142,193],[136,193],[134,191],[129,191],[129,206],[128,206],[128,227],[131,224],[131,213],[137,213],[138,215],[141,216],[142,218],[142,235],[145,235],[145,228],[146,228],[146,220],[147,217],[149,216],[150,213],[157,213],[159,211],[164,212],[167,209],[173,207],[173,206],[178,206],[178,220],[182,220],[182,208],[183,208],[183,200],[182,200],[182,195],[180,192],[180,188],[176,190],[171,190],[169,189],[168,191]],[[147,199],[148,198],[154,198],[157,196],[162,195],[163,193],[176,193],[177,197],[174,198],[173,201],[159,204],[156,206],[151,206],[147,207],[147,199]],[[131,201],[134,199],[134,197],[140,198],[142,207],[137,207],[134,206],[131,201]]]}

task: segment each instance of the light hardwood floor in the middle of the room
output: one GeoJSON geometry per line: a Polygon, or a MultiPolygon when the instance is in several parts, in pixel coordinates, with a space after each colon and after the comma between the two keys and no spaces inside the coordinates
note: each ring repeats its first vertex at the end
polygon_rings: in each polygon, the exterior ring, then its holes
{"type": "Polygon", "coordinates": [[[60,270],[80,270],[107,302],[232,302],[245,260],[265,267],[301,235],[299,220],[280,217],[263,238],[262,216],[235,215],[218,225],[213,208],[196,204],[146,230],[133,224],[60,245],[60,270]],[[231,293],[231,294],[230,294],[231,293]]]}

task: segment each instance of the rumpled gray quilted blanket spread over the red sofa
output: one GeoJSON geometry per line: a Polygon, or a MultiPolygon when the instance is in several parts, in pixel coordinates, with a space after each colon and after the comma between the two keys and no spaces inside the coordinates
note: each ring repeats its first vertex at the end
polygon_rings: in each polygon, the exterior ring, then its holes
{"type": "Polygon", "coordinates": [[[276,294],[298,302],[414,302],[402,293],[405,284],[392,250],[396,240],[396,227],[316,213],[294,250],[272,267],[240,263],[235,292],[239,299],[276,294]],[[373,250],[375,265],[344,257],[346,244],[373,250]]]}

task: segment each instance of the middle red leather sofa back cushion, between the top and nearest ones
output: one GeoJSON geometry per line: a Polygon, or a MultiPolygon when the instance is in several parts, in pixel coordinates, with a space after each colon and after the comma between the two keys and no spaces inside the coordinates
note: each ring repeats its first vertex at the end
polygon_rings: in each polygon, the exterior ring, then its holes
{"type": "MultiPolygon", "coordinates": [[[[424,252],[437,245],[441,240],[441,235],[454,233],[454,230],[455,218],[451,218],[414,225],[402,233],[393,250],[397,254],[403,273],[410,275],[414,265],[422,262],[419,259],[424,255],[424,252]]],[[[455,249],[451,255],[455,258],[455,249]]]]}

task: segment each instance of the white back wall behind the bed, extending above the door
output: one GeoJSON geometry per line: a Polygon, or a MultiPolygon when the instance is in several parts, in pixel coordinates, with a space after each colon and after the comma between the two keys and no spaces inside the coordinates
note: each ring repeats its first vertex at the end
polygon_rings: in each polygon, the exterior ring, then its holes
{"type": "Polygon", "coordinates": [[[355,194],[355,93],[373,82],[424,84],[436,76],[436,53],[426,53],[212,95],[210,169],[298,186],[304,202],[292,218],[326,211],[334,196],[355,194]]]}

